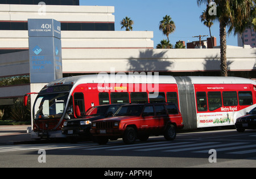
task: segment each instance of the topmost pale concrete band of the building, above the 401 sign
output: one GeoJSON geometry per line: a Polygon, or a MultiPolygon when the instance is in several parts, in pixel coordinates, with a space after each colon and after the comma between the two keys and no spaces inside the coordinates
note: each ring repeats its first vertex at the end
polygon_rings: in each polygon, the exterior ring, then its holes
{"type": "Polygon", "coordinates": [[[1,5],[0,20],[56,19],[60,22],[113,22],[113,6],[1,5]]]}

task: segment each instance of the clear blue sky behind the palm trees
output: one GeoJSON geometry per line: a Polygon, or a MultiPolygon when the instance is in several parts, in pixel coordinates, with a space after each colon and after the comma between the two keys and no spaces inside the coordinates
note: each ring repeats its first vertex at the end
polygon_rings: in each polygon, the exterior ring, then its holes
{"type": "MultiPolygon", "coordinates": [[[[187,42],[198,41],[193,36],[209,35],[209,28],[201,23],[200,15],[206,5],[197,6],[196,0],[80,0],[81,6],[114,6],[115,31],[121,29],[121,20],[128,16],[134,21],[133,31],[153,31],[154,47],[161,40],[167,39],[159,30],[159,22],[163,17],[170,15],[176,25],[176,31],[169,35],[171,44],[183,40],[187,42]]],[[[220,45],[220,23],[216,20],[211,28],[212,36],[217,38],[220,45]]],[[[203,40],[206,40],[204,37],[203,40]]],[[[237,36],[233,33],[227,36],[227,45],[237,46],[237,36]]]]}

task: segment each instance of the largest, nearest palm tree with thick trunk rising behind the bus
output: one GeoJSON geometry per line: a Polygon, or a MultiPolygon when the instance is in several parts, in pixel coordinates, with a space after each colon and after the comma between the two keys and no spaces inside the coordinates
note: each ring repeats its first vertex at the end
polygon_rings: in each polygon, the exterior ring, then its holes
{"type": "MultiPolygon", "coordinates": [[[[210,0],[197,0],[197,4],[209,4],[210,0]]],[[[251,0],[214,0],[217,5],[217,16],[220,22],[220,54],[221,54],[221,76],[228,76],[226,64],[226,27],[230,31],[235,24],[243,24],[249,21],[251,0]]],[[[230,33],[229,31],[229,33],[230,33]]]]}

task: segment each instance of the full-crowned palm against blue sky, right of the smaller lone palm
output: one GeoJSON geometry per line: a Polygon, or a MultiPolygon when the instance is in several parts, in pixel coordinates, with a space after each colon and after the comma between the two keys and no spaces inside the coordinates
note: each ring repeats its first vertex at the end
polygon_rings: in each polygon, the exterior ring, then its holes
{"type": "Polygon", "coordinates": [[[174,32],[176,29],[174,21],[169,15],[163,17],[163,20],[160,21],[159,30],[163,32],[164,35],[167,36],[167,40],[169,40],[170,33],[174,32]]]}

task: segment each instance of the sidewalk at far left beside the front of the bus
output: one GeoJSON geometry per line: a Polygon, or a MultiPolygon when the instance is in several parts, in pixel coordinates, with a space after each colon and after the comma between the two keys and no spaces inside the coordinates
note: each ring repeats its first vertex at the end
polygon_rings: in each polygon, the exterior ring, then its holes
{"type": "Polygon", "coordinates": [[[31,137],[30,133],[27,133],[27,127],[31,125],[0,126],[0,146],[30,141],[31,137]]]}

